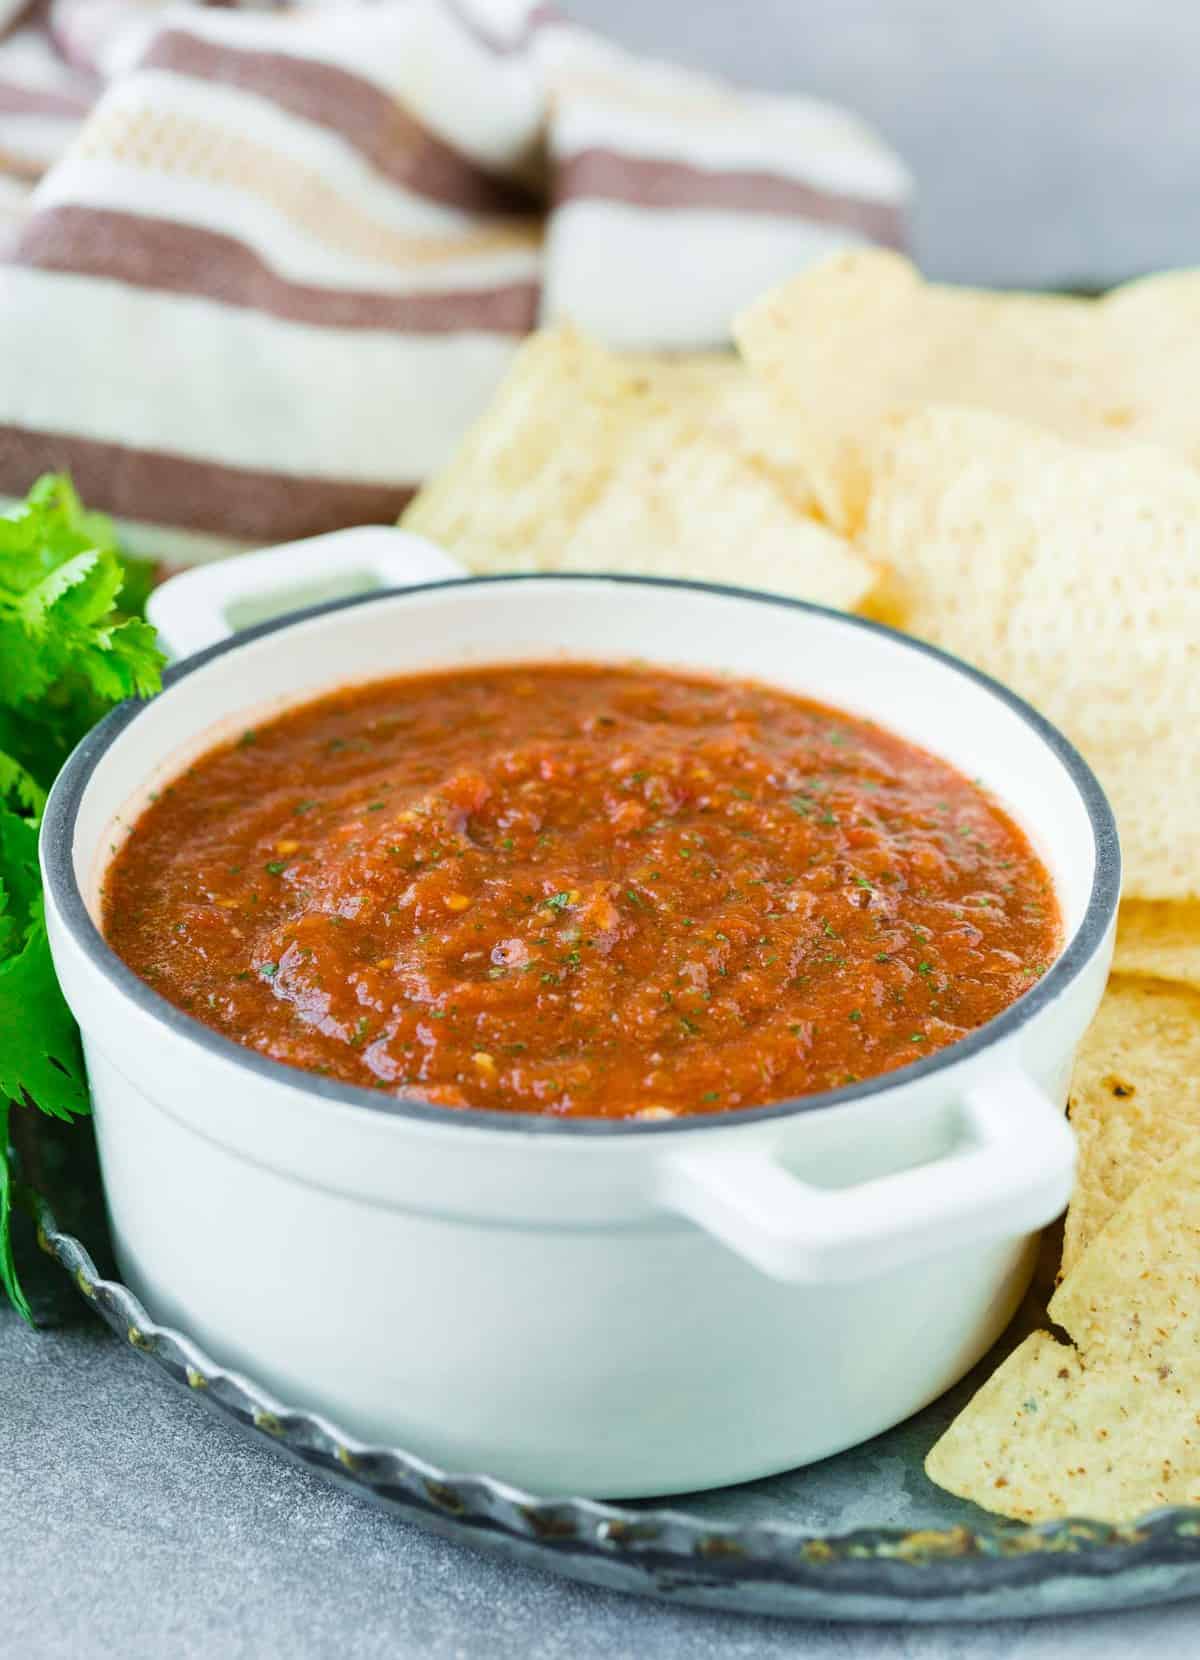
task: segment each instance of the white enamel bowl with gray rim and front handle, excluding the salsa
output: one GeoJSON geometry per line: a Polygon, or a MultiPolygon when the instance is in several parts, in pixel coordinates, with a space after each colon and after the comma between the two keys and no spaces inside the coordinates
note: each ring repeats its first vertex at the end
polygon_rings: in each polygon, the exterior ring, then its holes
{"type": "Polygon", "coordinates": [[[128,1283],[285,1403],[443,1467],[634,1497],[863,1441],[984,1353],[1069,1195],[1062,1106],[1112,951],[1112,815],[1027,706],[868,622],[612,578],[450,581],[282,619],[103,722],[55,785],[41,857],[128,1283]],[[105,946],[111,848],[217,737],[350,681],[548,657],[754,676],[934,750],[1031,835],[1064,954],[903,1071],[599,1124],[446,1112],[266,1061],[105,946]]]}

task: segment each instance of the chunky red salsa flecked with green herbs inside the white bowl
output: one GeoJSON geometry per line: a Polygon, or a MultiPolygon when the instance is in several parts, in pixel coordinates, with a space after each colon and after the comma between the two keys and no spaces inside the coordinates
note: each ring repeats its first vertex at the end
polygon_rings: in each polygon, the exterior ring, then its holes
{"type": "Polygon", "coordinates": [[[1061,921],[996,802],[878,725],[538,664],[352,687],[214,749],[115,857],[105,933],[290,1066],[667,1117],[931,1054],[1046,971],[1061,921]]]}

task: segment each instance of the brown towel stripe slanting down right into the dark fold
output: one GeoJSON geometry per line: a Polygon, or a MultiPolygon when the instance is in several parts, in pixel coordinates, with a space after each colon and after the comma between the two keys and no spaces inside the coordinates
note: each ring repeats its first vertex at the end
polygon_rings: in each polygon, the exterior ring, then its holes
{"type": "Polygon", "coordinates": [[[156,35],[141,60],[158,70],[256,93],[329,133],[337,133],[392,183],[417,196],[481,214],[534,214],[518,184],[486,173],[435,138],[378,86],[332,63],[282,51],[241,51],[181,28],[156,35]]]}

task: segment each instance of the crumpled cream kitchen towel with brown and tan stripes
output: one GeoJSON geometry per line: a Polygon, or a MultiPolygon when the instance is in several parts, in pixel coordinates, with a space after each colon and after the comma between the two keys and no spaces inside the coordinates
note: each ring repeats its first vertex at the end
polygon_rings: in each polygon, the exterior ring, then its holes
{"type": "Polygon", "coordinates": [[[531,0],[5,7],[0,495],[70,468],[173,563],[395,518],[543,319],[719,345],[903,239],[846,111],[531,0]]]}

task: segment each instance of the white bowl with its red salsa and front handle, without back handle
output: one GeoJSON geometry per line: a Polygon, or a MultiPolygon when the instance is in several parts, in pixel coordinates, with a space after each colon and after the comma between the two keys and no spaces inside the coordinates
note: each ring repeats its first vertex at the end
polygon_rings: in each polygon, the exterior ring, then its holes
{"type": "Polygon", "coordinates": [[[128,1282],[441,1466],[637,1496],[865,1439],[1069,1194],[1112,817],[878,624],[599,576],[269,621],[85,740],[43,863],[128,1282]]]}

